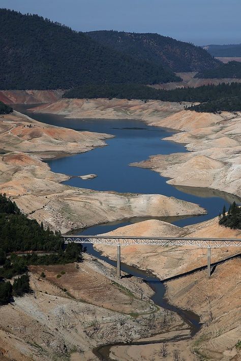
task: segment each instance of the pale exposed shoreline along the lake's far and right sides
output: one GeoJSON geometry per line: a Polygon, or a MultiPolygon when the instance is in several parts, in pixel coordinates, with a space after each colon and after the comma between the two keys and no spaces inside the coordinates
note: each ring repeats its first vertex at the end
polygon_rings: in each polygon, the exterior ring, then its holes
{"type": "Polygon", "coordinates": [[[166,140],[185,144],[188,153],[153,155],[132,166],[152,169],[170,178],[169,184],[217,189],[241,198],[241,113],[196,113],[183,106],[160,101],[64,99],[31,110],[64,115],[66,121],[125,117],[174,129],[179,133],[166,140]]]}

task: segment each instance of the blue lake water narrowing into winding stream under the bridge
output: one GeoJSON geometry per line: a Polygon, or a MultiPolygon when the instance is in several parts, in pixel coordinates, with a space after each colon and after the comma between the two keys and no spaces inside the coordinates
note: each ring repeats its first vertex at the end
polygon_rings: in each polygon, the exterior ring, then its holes
{"type": "MultiPolygon", "coordinates": [[[[207,214],[202,216],[163,219],[178,226],[185,226],[213,218],[222,211],[224,204],[226,207],[229,207],[230,203],[234,200],[240,203],[239,199],[233,198],[232,195],[224,192],[203,188],[173,187],[166,183],[166,178],[160,177],[156,172],[128,166],[131,162],[147,159],[149,155],[187,152],[184,145],[162,140],[162,138],[171,136],[174,133],[172,130],[148,126],[140,120],[66,119],[64,116],[59,115],[32,113],[26,110],[26,106],[16,106],[15,109],[43,123],[75,130],[107,133],[115,136],[113,139],[106,140],[107,147],[49,160],[48,164],[55,173],[64,173],[71,176],[91,173],[98,175],[97,178],[91,180],[71,178],[64,182],[65,184],[95,190],[115,190],[123,193],[160,193],[197,203],[207,210],[207,214]]],[[[119,226],[130,224],[133,221],[138,220],[122,220],[93,226],[81,232],[76,231],[76,234],[97,235],[106,233],[119,226]]],[[[93,245],[87,245],[87,252],[114,267],[116,266],[115,261],[96,251],[93,245]]],[[[165,298],[165,285],[159,278],[151,273],[123,263],[122,270],[143,279],[155,292],[152,297],[154,303],[164,309],[176,312],[188,324],[190,327],[190,337],[193,337],[200,330],[200,318],[197,314],[176,308],[167,301],[165,298]]],[[[178,340],[177,337],[171,339],[173,342],[176,340],[178,340]]],[[[157,342],[160,341],[144,341],[144,344],[157,342]]],[[[130,343],[130,345],[138,344],[143,344],[143,342],[136,341],[130,343]]],[[[102,345],[97,347],[94,353],[101,360],[110,361],[110,348],[118,345],[126,344],[102,345]]]]}

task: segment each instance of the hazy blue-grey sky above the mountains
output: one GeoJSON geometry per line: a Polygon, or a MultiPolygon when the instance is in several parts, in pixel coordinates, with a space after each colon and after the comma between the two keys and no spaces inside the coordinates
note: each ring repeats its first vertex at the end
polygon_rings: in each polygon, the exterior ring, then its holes
{"type": "Polygon", "coordinates": [[[197,45],[241,43],[241,0],[0,0],[75,30],[158,32],[197,45]]]}

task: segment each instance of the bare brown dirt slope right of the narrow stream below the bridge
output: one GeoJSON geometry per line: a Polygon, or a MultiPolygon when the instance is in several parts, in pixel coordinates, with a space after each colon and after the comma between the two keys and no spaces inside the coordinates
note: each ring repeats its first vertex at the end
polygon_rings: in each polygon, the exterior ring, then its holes
{"type": "Polygon", "coordinates": [[[212,360],[240,360],[235,347],[241,339],[241,260],[217,266],[210,279],[205,272],[167,283],[171,303],[201,316],[203,327],[192,341],[198,355],[212,360]]]}

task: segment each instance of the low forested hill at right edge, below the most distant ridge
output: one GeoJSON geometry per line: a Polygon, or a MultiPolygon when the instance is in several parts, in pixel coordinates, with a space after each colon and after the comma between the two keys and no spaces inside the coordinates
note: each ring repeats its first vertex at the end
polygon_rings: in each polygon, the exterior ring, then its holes
{"type": "Polygon", "coordinates": [[[229,61],[226,64],[221,64],[216,69],[207,69],[195,75],[194,78],[205,79],[223,79],[223,78],[236,78],[241,79],[241,62],[229,61]]]}

